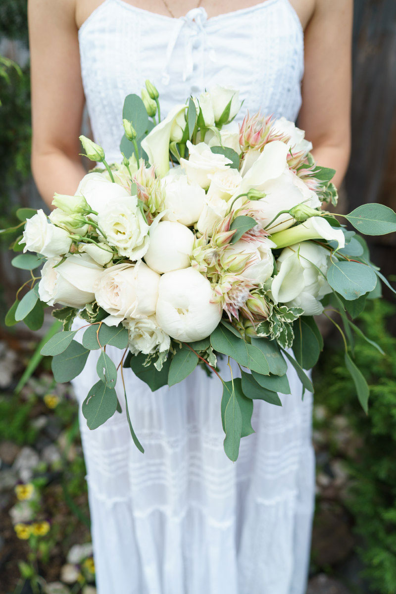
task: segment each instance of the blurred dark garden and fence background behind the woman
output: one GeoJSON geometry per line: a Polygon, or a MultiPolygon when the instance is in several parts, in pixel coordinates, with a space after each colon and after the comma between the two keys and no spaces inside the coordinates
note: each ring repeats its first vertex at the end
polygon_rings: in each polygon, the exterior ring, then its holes
{"type": "MultiPolygon", "coordinates": [[[[344,191],[350,210],[396,208],[396,2],[355,0],[352,154],[344,191]]],[[[26,0],[0,3],[0,228],[18,207],[39,207],[30,174],[26,0]]],[[[342,200],[341,200],[342,202],[342,200]]],[[[0,240],[0,304],[9,307],[24,272],[0,240]],[[7,290],[5,290],[7,289],[7,290]]],[[[396,238],[369,238],[373,260],[394,274],[396,238]]],[[[394,277],[393,277],[393,280],[394,277]]],[[[391,301],[391,292],[385,289],[391,301]]],[[[316,516],[307,594],[396,594],[395,308],[373,301],[357,323],[388,353],[356,339],[371,388],[370,412],[344,374],[337,333],[315,371],[316,516]]],[[[93,594],[85,466],[77,404],[54,385],[44,358],[21,374],[37,345],[23,324],[0,320],[0,594],[93,594]],[[18,387],[18,390],[15,388],[18,387]]],[[[46,328],[45,328],[46,331],[46,328]]]]}

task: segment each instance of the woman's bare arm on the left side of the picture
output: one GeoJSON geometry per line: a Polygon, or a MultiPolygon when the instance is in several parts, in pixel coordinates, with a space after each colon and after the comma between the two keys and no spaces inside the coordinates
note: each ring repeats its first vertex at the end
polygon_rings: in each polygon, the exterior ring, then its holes
{"type": "Polygon", "coordinates": [[[55,191],[74,194],[85,170],[80,134],[84,92],[75,0],[29,0],[33,140],[31,168],[50,205],[55,191]]]}

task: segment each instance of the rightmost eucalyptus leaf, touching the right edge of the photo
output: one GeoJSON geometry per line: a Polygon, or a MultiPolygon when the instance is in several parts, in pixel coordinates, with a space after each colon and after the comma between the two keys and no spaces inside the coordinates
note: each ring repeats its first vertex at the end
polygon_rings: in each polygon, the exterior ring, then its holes
{"type": "Polygon", "coordinates": [[[362,204],[347,214],[346,219],[365,235],[386,235],[396,231],[396,213],[384,204],[362,204]]]}

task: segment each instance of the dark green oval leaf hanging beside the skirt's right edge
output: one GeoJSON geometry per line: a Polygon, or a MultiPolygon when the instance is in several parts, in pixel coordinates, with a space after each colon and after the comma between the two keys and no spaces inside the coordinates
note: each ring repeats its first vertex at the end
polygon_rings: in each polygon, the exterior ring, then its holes
{"type": "Polygon", "coordinates": [[[311,369],[316,365],[322,350],[323,341],[319,339],[319,330],[315,331],[312,323],[316,326],[315,320],[312,317],[302,315],[293,324],[293,353],[296,361],[303,369],[311,369]],[[310,322],[308,322],[308,319],[310,322]]]}

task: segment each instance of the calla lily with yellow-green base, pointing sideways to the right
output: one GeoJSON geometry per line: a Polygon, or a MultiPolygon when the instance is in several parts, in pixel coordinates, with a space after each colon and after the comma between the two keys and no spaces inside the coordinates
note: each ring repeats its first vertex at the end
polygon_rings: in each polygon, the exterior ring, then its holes
{"type": "Polygon", "coordinates": [[[277,245],[277,248],[286,248],[288,245],[309,239],[337,241],[338,249],[345,246],[343,231],[332,227],[323,217],[311,217],[301,225],[271,235],[271,240],[277,245]]]}

